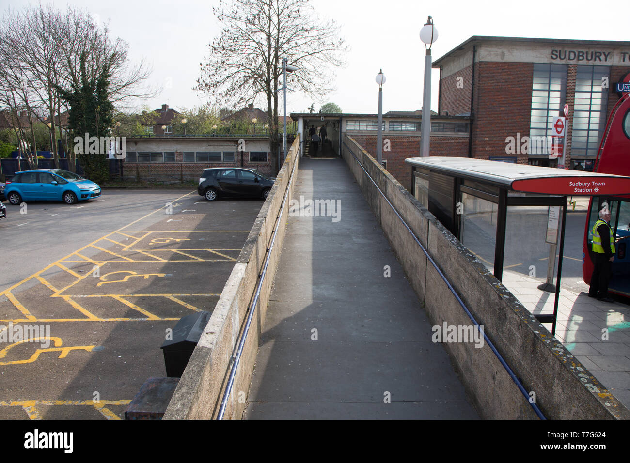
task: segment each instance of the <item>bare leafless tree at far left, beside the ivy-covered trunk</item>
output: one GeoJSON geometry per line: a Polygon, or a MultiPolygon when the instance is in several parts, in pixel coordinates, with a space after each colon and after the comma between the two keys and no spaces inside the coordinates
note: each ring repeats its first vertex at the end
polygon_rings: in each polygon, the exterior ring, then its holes
{"type": "MultiPolygon", "coordinates": [[[[0,105],[13,112],[26,108],[29,120],[35,117],[49,127],[51,151],[59,166],[55,129],[62,139],[61,116],[68,110],[59,89],[80,86],[82,57],[88,81],[104,69],[110,72],[112,103],[124,106],[131,97],[156,94],[156,89],[142,87],[151,71],[144,62],[130,64],[128,49],[122,39],[110,38],[106,25],[99,26],[86,11],[72,6],[65,14],[42,4],[9,10],[0,21],[0,105]]],[[[35,145],[32,122],[30,126],[35,145]]],[[[74,170],[74,152],[67,151],[69,167],[74,170]]]]}

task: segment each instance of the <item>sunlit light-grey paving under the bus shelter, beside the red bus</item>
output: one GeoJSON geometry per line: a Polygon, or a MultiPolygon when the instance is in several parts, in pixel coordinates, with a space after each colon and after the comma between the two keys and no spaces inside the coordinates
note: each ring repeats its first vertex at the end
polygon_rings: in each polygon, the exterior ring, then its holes
{"type": "MultiPolygon", "coordinates": [[[[532,314],[553,313],[555,294],[537,288],[543,281],[503,270],[503,285],[532,314]]],[[[630,306],[561,288],[556,338],[630,408],[630,306]]]]}

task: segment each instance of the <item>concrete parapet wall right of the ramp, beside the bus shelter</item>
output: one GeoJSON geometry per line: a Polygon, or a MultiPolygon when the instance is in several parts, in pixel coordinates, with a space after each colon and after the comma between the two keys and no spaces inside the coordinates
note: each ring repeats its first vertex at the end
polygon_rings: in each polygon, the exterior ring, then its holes
{"type": "MultiPolygon", "coordinates": [[[[425,246],[455,292],[484,327],[484,333],[548,419],[629,419],[630,411],[613,397],[564,346],[539,323],[468,249],[352,137],[344,136],[341,156],[363,191],[398,255],[433,325],[471,326],[438,271],[398,215],[425,246]],[[356,156],[358,159],[355,159],[356,156]]],[[[471,401],[483,418],[536,419],[488,343],[445,343],[471,401]]]]}

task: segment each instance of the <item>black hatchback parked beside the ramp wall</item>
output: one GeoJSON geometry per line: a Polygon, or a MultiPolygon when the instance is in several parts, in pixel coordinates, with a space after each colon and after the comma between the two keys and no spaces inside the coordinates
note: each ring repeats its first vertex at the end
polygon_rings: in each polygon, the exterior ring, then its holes
{"type": "Polygon", "coordinates": [[[265,199],[274,181],[274,177],[256,169],[223,167],[203,169],[197,193],[208,201],[215,201],[220,197],[265,199]]]}

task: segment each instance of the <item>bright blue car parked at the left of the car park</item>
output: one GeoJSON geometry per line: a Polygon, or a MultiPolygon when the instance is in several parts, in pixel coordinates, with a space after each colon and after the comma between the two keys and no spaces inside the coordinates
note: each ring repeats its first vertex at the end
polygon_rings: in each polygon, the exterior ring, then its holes
{"type": "Polygon", "coordinates": [[[37,169],[17,172],[6,182],[4,194],[13,205],[23,201],[77,201],[98,198],[100,186],[80,175],[62,169],[37,169]]]}

